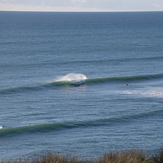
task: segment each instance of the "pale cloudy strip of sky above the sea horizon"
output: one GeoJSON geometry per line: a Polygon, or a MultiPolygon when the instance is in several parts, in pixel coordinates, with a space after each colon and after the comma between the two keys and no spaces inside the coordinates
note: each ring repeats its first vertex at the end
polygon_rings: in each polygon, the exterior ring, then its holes
{"type": "Polygon", "coordinates": [[[163,11],[163,0],[0,0],[0,11],[163,11]]]}

